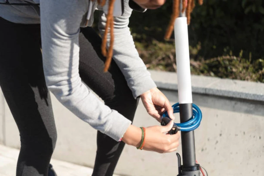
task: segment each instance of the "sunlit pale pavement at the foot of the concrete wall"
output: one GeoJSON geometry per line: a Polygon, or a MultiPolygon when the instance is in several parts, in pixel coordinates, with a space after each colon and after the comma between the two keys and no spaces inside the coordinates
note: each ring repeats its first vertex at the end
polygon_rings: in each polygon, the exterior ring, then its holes
{"type": "MultiPolygon", "coordinates": [[[[16,175],[16,162],[19,150],[0,145],[0,176],[16,175]]],[[[92,175],[92,168],[84,167],[65,161],[51,159],[58,176],[89,176],[92,175]]],[[[115,175],[117,176],[117,175],[115,175]]]]}

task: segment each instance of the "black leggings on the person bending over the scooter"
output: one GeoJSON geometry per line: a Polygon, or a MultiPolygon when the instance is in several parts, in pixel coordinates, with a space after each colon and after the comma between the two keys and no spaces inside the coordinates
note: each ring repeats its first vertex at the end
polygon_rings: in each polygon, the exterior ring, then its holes
{"type": "MultiPolygon", "coordinates": [[[[0,86],[21,139],[16,175],[46,176],[57,133],[43,73],[40,25],[11,23],[0,17],[0,26],[0,86]]],[[[99,35],[90,27],[82,28],[79,45],[82,81],[111,109],[133,121],[138,99],[133,98],[114,61],[109,72],[103,72],[99,35]]],[[[98,131],[93,176],[113,175],[123,147],[123,142],[98,131]]]]}

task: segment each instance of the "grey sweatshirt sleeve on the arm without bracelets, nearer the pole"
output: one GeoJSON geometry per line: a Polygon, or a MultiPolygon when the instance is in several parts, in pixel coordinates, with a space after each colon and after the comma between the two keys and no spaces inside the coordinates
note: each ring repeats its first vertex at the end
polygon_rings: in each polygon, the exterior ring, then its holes
{"type": "MultiPolygon", "coordinates": [[[[131,89],[134,98],[144,92],[156,87],[155,82],[150,77],[144,62],[138,55],[135,48],[128,23],[132,9],[128,5],[128,0],[124,0],[124,13],[122,16],[114,17],[114,47],[113,59],[125,76],[128,87],[131,89]]],[[[98,28],[101,36],[104,35],[106,26],[106,15],[101,12],[99,16],[98,28]]],[[[110,43],[110,34],[107,36],[107,46],[110,43]]]]}

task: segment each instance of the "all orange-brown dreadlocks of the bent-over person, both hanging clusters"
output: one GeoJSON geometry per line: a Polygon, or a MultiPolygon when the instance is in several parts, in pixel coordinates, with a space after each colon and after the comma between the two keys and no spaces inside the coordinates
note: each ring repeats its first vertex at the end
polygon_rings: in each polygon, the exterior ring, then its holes
{"type": "MultiPolygon", "coordinates": [[[[94,0],[92,0],[94,1],[94,0]]],[[[107,72],[111,60],[113,57],[113,47],[114,47],[114,17],[113,17],[113,10],[114,10],[114,2],[115,0],[108,0],[109,1],[109,7],[108,7],[108,14],[106,16],[106,26],[103,36],[103,41],[101,45],[102,54],[104,57],[106,57],[105,65],[104,65],[104,72],[107,72]],[[110,45],[108,50],[106,50],[106,43],[107,43],[107,35],[110,28],[110,45]]],[[[187,24],[190,24],[191,21],[191,12],[194,9],[195,6],[195,0],[173,0],[172,5],[172,15],[170,18],[170,23],[167,27],[167,31],[165,33],[165,39],[169,39],[172,35],[172,31],[174,28],[174,22],[175,19],[180,14],[180,1],[182,1],[182,13],[186,11],[186,17],[187,17],[187,24]]],[[[100,6],[104,6],[106,4],[106,0],[97,0],[97,3],[100,4],[100,6]]],[[[203,0],[198,0],[198,3],[200,5],[203,4],[203,0]]]]}

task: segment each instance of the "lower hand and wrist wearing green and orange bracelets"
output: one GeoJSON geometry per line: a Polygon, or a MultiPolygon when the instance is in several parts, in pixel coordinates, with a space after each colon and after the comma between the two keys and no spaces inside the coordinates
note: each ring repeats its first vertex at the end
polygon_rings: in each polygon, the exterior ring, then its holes
{"type": "MultiPolygon", "coordinates": [[[[173,126],[173,121],[170,121],[166,126],[150,126],[145,128],[145,145],[143,150],[155,151],[158,153],[168,153],[177,150],[179,146],[180,132],[167,135],[173,126]]],[[[141,144],[142,132],[136,126],[129,126],[123,136],[123,142],[128,145],[138,147],[141,144]]]]}

